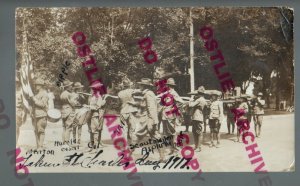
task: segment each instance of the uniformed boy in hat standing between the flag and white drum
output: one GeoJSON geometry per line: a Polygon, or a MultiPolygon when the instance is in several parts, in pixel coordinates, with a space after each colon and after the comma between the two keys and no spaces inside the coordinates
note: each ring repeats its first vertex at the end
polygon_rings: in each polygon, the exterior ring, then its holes
{"type": "Polygon", "coordinates": [[[35,106],[35,132],[37,136],[37,148],[43,148],[45,139],[45,129],[47,126],[48,94],[45,89],[45,83],[42,79],[37,79],[35,88],[37,94],[32,97],[35,106]]]}

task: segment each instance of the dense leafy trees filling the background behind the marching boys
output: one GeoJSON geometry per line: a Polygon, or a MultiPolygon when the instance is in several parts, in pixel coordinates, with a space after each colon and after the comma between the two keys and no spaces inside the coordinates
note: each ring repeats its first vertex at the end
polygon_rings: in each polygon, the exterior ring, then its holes
{"type": "MultiPolygon", "coordinates": [[[[220,89],[199,29],[209,25],[236,86],[293,103],[293,11],[288,8],[191,8],[195,41],[195,87],[220,89]]],[[[17,69],[22,61],[23,32],[34,72],[58,89],[61,64],[71,61],[67,78],[88,86],[71,36],[82,31],[110,88],[123,78],[136,82],[155,72],[174,76],[179,93],[189,87],[190,8],[19,8],[16,11],[17,69]],[[147,64],[137,42],[150,36],[159,61],[147,64]]],[[[269,100],[267,100],[269,102],[269,100]]]]}

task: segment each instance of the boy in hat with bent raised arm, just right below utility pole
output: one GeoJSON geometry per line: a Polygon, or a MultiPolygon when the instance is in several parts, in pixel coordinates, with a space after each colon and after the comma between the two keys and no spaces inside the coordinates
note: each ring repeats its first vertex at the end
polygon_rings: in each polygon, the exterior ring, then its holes
{"type": "MultiPolygon", "coordinates": [[[[192,94],[192,93],[190,93],[192,94]]],[[[189,107],[193,108],[192,111],[192,132],[195,141],[195,151],[201,151],[201,138],[202,125],[204,122],[203,111],[206,107],[206,100],[204,98],[205,88],[203,86],[198,88],[195,94],[194,100],[189,102],[189,107]]]]}

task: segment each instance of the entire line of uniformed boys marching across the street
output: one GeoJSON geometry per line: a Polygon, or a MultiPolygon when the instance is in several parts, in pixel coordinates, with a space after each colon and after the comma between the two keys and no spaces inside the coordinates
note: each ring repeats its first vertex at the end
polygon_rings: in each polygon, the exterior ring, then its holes
{"type": "MultiPolygon", "coordinates": [[[[47,126],[47,110],[49,91],[45,83],[36,80],[36,95],[31,97],[35,106],[35,133],[38,148],[43,148],[45,128],[47,126]]],[[[93,96],[83,93],[83,85],[80,82],[73,83],[69,80],[63,82],[59,102],[61,104],[61,119],[63,123],[63,141],[69,141],[71,134],[73,141],[80,144],[81,130],[84,124],[88,124],[91,149],[103,147],[101,133],[104,123],[104,114],[109,109],[106,98],[120,103],[120,122],[129,144],[136,144],[149,138],[160,139],[163,136],[173,136],[170,143],[170,152],[178,151],[176,148],[176,135],[179,134],[179,126],[185,125],[185,132],[192,126],[194,150],[201,151],[203,133],[206,133],[207,125],[210,128],[210,147],[220,147],[220,127],[226,123],[228,134],[233,134],[236,117],[232,109],[243,109],[245,114],[242,117],[251,122],[253,118],[256,137],[260,137],[262,118],[264,114],[265,101],[262,94],[258,93],[255,98],[248,95],[239,97],[231,96],[229,99],[221,99],[222,93],[217,90],[205,90],[203,86],[196,91],[188,93],[190,97],[180,97],[176,92],[176,83],[173,78],[164,81],[164,91],[149,78],[142,78],[137,82],[135,88],[133,83],[125,79],[120,84],[120,91],[117,96],[106,94],[104,96],[93,96]],[[155,94],[157,93],[157,95],[155,94]],[[168,96],[166,96],[168,94],[168,96]],[[172,104],[170,104],[172,103],[172,104]],[[226,117],[225,117],[226,116],[226,117]],[[162,129],[162,130],[161,130],[162,129]]],[[[17,91],[18,92],[18,91],[17,91]]],[[[21,95],[17,94],[17,109],[21,108],[21,95]]],[[[58,98],[56,98],[58,99],[58,98]]],[[[52,103],[53,107],[53,103],[52,103]]],[[[21,124],[21,112],[17,112],[17,124],[21,124]]],[[[19,134],[17,125],[17,137],[19,134]]],[[[240,140],[237,130],[237,140],[240,140]]],[[[134,150],[134,149],[133,149],[134,150]]],[[[133,151],[132,150],[132,151],[133,151]]],[[[158,149],[160,160],[164,160],[162,149],[158,149]]],[[[131,152],[132,153],[132,152],[131,152]]]]}

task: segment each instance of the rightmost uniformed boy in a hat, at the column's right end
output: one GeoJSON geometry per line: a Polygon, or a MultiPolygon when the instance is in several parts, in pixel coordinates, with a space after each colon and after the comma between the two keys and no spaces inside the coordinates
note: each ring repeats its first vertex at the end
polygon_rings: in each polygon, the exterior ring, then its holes
{"type": "Polygon", "coordinates": [[[256,137],[260,137],[261,132],[261,125],[264,115],[264,105],[265,100],[262,99],[263,94],[260,92],[257,95],[257,98],[254,100],[254,113],[253,113],[253,120],[254,120],[254,126],[255,126],[255,135],[256,137]]]}

